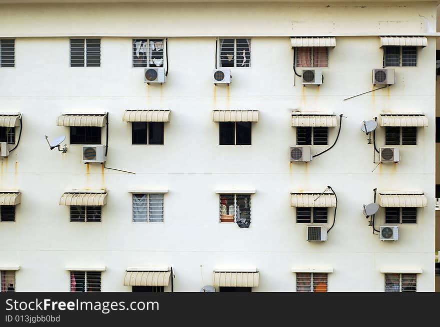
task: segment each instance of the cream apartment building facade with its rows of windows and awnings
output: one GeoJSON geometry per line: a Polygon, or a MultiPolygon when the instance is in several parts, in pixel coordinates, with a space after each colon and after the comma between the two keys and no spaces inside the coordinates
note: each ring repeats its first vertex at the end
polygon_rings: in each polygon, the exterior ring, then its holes
{"type": "Polygon", "coordinates": [[[37,2],[0,1],[2,291],[434,291],[435,1],[37,2]]]}

